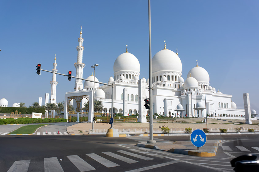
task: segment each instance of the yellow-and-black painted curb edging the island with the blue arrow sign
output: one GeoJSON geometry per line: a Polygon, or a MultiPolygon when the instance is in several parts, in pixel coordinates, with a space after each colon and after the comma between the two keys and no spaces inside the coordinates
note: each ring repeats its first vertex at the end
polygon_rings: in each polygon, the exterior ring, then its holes
{"type": "Polygon", "coordinates": [[[162,150],[162,151],[178,153],[178,154],[183,154],[183,155],[211,157],[211,156],[216,156],[216,153],[218,150],[218,145],[221,142],[222,142],[222,140],[216,141],[214,143],[214,146],[212,146],[212,149],[207,152],[198,152],[196,150],[183,150],[183,149],[174,149],[174,148],[171,148],[169,150],[164,150],[164,149],[159,148],[157,145],[147,145],[147,144],[143,144],[143,143],[137,143],[136,145],[139,147],[143,147],[143,148],[158,149],[158,150],[162,150]]]}

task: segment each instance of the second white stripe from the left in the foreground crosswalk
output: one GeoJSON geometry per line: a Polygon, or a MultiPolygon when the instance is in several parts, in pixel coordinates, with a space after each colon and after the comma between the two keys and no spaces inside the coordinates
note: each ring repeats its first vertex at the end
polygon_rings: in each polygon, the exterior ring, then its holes
{"type": "Polygon", "coordinates": [[[44,158],[45,172],[64,172],[57,157],[44,158]]]}

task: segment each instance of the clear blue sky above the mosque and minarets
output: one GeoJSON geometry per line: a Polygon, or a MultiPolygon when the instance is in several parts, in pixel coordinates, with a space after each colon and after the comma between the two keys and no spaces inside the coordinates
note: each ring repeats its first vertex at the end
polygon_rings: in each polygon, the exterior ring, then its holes
{"type": "MultiPolygon", "coordinates": [[[[152,57],[166,47],[178,49],[182,77],[198,65],[210,75],[210,85],[231,94],[243,108],[243,93],[250,94],[251,108],[259,112],[259,1],[154,1],[151,0],[152,57]]],[[[0,98],[9,106],[27,107],[50,93],[52,74],[36,75],[35,65],[59,73],[75,74],[78,37],[84,38],[83,77],[108,82],[116,58],[128,52],[140,63],[140,78],[148,78],[148,1],[1,1],[0,98]]],[[[74,90],[74,79],[57,75],[57,101],[74,90]]]]}

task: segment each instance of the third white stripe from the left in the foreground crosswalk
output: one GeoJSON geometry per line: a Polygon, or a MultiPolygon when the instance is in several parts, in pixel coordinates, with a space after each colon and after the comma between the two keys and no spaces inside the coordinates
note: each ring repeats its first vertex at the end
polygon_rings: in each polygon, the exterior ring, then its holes
{"type": "Polygon", "coordinates": [[[91,166],[89,163],[84,161],[82,158],[80,158],[77,155],[70,155],[67,156],[67,158],[78,168],[79,171],[90,171],[95,170],[93,166],[91,166]]]}

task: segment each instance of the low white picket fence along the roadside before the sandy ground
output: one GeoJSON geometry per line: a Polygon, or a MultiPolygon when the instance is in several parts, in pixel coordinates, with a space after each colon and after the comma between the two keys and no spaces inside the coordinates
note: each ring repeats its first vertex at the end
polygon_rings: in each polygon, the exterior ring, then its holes
{"type": "MultiPolygon", "coordinates": [[[[192,128],[192,131],[202,128],[192,128]]],[[[149,129],[117,129],[119,134],[144,134],[149,133],[149,129]]],[[[247,132],[248,129],[240,129],[240,132],[247,132]]],[[[89,134],[106,134],[107,129],[90,129],[89,134]]],[[[169,133],[184,133],[184,128],[171,128],[169,133]]],[[[209,128],[210,133],[211,132],[220,132],[219,128],[209,128]]],[[[255,129],[255,132],[258,132],[259,129],[255,129]]],[[[228,128],[227,132],[236,132],[235,128],[228,128]]],[[[160,128],[156,128],[153,130],[153,133],[162,133],[162,130],[160,128]]]]}

